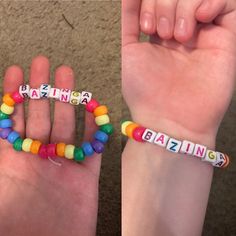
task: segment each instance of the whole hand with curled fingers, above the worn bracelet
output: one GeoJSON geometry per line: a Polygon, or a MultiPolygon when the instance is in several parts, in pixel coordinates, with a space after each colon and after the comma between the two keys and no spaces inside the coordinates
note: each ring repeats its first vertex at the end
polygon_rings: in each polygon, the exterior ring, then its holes
{"type": "MultiPolygon", "coordinates": [[[[157,2],[123,2],[124,97],[134,121],[176,138],[213,146],[236,76],[235,1],[203,1],[201,6],[199,1],[157,2]],[[169,7],[160,6],[168,2],[169,7]],[[191,40],[184,46],[174,39],[152,36],[151,43],[140,43],[140,20],[143,31],[147,26],[144,12],[155,13],[153,22],[168,17],[173,33],[178,26],[175,15],[177,19],[185,17],[187,31],[174,36],[179,41],[191,40]],[[196,20],[214,23],[198,25],[191,37],[196,20]]],[[[157,26],[155,23],[148,33],[155,33],[157,26]]],[[[159,34],[171,38],[173,33],[159,34]]]]}

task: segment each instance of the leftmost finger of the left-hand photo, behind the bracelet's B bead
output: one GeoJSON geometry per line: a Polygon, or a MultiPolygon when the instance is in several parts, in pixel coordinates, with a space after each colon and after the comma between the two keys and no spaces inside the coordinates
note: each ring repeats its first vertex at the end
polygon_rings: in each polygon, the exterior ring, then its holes
{"type": "MultiPolygon", "coordinates": [[[[19,86],[24,83],[23,72],[18,66],[11,66],[7,69],[3,82],[4,93],[12,93],[19,90],[19,86]]],[[[14,129],[21,135],[25,132],[24,107],[23,104],[16,104],[11,116],[14,129]]]]}

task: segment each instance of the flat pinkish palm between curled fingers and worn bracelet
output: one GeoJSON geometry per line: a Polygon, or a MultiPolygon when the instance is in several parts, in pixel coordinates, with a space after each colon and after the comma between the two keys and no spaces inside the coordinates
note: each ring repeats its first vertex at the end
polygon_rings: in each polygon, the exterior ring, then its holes
{"type": "Polygon", "coordinates": [[[207,27],[186,47],[173,41],[124,46],[123,92],[134,119],[215,135],[233,91],[234,42],[229,31],[207,27]]]}

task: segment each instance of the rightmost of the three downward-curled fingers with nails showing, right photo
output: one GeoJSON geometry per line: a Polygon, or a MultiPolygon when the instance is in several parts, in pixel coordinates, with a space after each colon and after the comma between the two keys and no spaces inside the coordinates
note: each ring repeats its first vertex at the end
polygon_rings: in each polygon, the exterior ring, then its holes
{"type": "Polygon", "coordinates": [[[196,27],[195,12],[201,1],[185,1],[181,0],[176,8],[176,20],[174,36],[181,43],[190,40],[194,34],[196,27]]]}

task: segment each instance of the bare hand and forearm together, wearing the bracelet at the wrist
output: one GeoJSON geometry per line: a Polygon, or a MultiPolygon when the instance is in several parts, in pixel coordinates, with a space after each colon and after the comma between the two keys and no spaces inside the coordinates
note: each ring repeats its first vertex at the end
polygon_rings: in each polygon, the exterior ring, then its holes
{"type": "MultiPolygon", "coordinates": [[[[234,91],[235,9],[230,0],[123,0],[122,90],[135,122],[215,149],[234,91]],[[150,42],[139,41],[141,31],[150,42]]],[[[212,173],[197,158],[129,140],[123,235],[201,235],[212,173]]]]}

